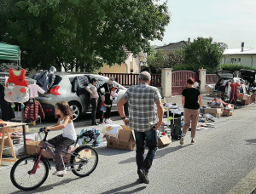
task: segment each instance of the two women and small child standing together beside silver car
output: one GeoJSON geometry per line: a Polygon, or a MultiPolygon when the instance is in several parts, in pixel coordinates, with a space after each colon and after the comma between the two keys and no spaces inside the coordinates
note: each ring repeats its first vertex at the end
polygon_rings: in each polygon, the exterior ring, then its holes
{"type": "Polygon", "coordinates": [[[111,107],[113,100],[111,100],[111,90],[113,89],[114,77],[110,77],[108,83],[103,83],[101,87],[96,88],[97,79],[96,77],[91,78],[90,83],[86,87],[86,90],[90,93],[90,104],[91,104],[91,124],[98,125],[96,122],[96,108],[98,105],[99,94],[101,94],[101,102],[99,103],[99,111],[101,113],[100,123],[113,123],[110,119],[111,107]],[[105,95],[102,94],[101,88],[105,89],[105,95]],[[107,110],[105,111],[105,107],[107,110]],[[105,114],[104,114],[105,111],[105,114]]]}

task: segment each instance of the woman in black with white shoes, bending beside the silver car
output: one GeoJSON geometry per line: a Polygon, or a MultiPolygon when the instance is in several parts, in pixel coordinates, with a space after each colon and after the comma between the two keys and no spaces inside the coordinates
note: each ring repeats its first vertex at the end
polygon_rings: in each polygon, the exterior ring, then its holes
{"type": "Polygon", "coordinates": [[[105,112],[105,123],[113,123],[113,121],[110,119],[110,112],[113,103],[113,100],[110,100],[110,91],[113,88],[113,81],[114,77],[110,77],[108,83],[103,83],[102,86],[98,88],[98,92],[100,92],[100,94],[102,94],[101,88],[105,89],[105,104],[109,106],[105,112]]]}

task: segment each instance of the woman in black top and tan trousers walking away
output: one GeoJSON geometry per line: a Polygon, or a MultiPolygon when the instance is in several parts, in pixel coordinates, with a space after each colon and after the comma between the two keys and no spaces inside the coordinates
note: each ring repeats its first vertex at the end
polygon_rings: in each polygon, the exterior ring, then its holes
{"type": "Polygon", "coordinates": [[[199,116],[199,108],[202,105],[201,92],[198,88],[194,88],[195,79],[189,77],[188,88],[183,89],[183,108],[184,108],[184,125],[183,134],[180,144],[183,145],[184,137],[190,126],[191,120],[191,144],[195,143],[195,131],[199,116]]]}

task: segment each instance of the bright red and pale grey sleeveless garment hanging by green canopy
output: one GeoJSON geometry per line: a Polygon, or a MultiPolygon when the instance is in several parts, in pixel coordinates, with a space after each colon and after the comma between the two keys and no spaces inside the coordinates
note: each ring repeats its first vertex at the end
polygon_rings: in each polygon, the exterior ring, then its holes
{"type": "Polygon", "coordinates": [[[26,70],[9,69],[9,79],[4,89],[4,99],[9,102],[24,103],[29,99],[26,70]]]}

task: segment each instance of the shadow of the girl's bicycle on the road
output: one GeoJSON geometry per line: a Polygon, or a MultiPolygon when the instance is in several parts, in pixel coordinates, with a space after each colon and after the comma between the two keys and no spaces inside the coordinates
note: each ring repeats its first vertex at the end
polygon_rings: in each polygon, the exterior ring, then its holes
{"type": "MultiPolygon", "coordinates": [[[[76,179],[67,179],[67,180],[61,180],[61,177],[59,177],[59,178],[60,178],[60,182],[57,182],[57,183],[54,183],[54,184],[51,184],[51,185],[43,185],[43,186],[40,186],[38,189],[35,189],[33,191],[15,191],[15,192],[12,192],[11,194],[15,194],[15,193],[26,193],[26,194],[41,193],[42,191],[50,191],[50,190],[54,189],[55,186],[63,185],[63,184],[66,184],[66,183],[70,183],[74,180],[81,179],[80,177],[76,178],[76,179]]],[[[44,184],[45,184],[45,182],[44,182],[44,184]]]]}

